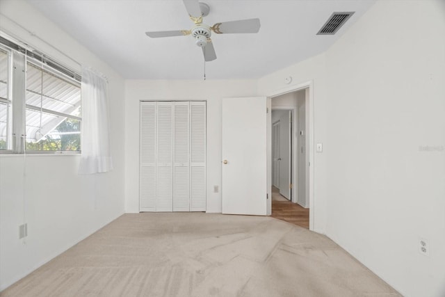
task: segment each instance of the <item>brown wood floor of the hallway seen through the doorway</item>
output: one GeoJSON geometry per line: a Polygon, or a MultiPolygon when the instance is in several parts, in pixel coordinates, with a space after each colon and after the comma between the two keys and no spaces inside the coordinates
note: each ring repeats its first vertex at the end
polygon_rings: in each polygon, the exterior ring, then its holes
{"type": "Polygon", "coordinates": [[[283,198],[280,191],[272,187],[272,217],[309,229],[309,209],[283,198]]]}

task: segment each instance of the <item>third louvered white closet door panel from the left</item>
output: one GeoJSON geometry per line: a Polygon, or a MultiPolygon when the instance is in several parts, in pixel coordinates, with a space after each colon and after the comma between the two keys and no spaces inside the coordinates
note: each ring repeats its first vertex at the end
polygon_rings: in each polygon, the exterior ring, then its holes
{"type": "Polygon", "coordinates": [[[173,211],[190,211],[189,102],[174,102],[173,211]]]}

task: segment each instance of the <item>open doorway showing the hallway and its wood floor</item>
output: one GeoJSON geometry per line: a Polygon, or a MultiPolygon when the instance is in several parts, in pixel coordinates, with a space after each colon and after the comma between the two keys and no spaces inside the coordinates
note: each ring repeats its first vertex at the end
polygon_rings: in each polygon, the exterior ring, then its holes
{"type": "Polygon", "coordinates": [[[309,227],[309,88],[271,97],[271,214],[309,227]],[[283,199],[284,198],[284,199],[283,199]]]}

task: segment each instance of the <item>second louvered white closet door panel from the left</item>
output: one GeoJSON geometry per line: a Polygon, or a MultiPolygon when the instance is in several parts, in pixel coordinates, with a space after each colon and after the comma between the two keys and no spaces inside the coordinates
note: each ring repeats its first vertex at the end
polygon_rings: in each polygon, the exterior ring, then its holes
{"type": "Polygon", "coordinates": [[[157,102],[156,118],[156,211],[173,211],[173,117],[172,102],[157,102]]]}

